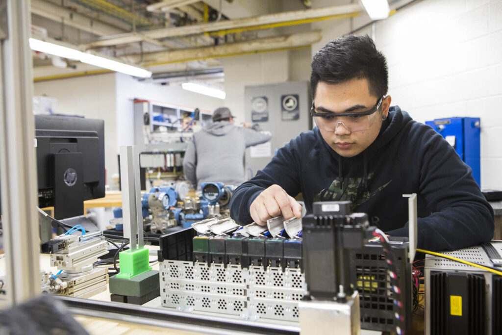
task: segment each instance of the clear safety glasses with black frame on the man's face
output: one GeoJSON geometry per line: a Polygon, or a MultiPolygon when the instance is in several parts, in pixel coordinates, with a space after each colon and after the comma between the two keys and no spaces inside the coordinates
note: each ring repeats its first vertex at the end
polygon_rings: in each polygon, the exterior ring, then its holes
{"type": "Polygon", "coordinates": [[[375,112],[379,110],[383,100],[384,97],[382,96],[373,108],[358,113],[317,113],[314,101],[312,101],[310,115],[314,118],[319,129],[334,132],[341,124],[351,132],[358,132],[369,129],[373,125],[376,119],[375,112]]]}

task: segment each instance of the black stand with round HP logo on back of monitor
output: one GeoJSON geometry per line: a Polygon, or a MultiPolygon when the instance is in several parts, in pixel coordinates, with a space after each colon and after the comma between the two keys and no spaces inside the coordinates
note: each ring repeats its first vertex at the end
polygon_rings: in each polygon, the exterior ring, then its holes
{"type": "Polygon", "coordinates": [[[84,155],[54,154],[54,217],[63,219],[84,213],[84,155]]]}

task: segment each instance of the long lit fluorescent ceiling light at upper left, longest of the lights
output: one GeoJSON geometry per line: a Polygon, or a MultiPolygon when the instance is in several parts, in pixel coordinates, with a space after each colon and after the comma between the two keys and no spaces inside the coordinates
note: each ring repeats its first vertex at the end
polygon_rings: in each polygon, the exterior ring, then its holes
{"type": "Polygon", "coordinates": [[[82,52],[73,48],[64,47],[55,43],[44,42],[30,38],[30,48],[46,54],[63,58],[78,60],[82,63],[102,67],[104,69],[126,73],[135,77],[150,78],[152,72],[144,68],[122,63],[113,59],[82,52]]]}

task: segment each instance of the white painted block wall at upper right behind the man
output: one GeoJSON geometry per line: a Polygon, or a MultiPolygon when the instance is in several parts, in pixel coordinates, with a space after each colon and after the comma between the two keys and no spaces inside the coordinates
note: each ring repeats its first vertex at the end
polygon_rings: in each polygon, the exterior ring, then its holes
{"type": "Polygon", "coordinates": [[[481,118],[481,187],[502,188],[502,1],[423,0],[376,24],[393,104],[481,118]]]}

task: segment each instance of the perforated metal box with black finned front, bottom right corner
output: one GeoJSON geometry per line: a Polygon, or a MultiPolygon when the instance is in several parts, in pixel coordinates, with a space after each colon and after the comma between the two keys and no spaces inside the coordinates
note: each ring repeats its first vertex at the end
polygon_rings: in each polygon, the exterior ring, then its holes
{"type": "MultiPolygon", "coordinates": [[[[492,243],[502,254],[502,243],[492,243]]],[[[493,266],[482,247],[465,248],[444,254],[482,265],[493,266]]],[[[482,269],[447,259],[427,255],[425,261],[426,286],[426,334],[459,333],[500,333],[500,301],[502,291],[499,278],[482,269]],[[452,277],[458,277],[459,285],[452,277]],[[454,285],[455,284],[455,285],[454,285]],[[463,290],[463,291],[462,291],[463,290]],[[462,315],[451,314],[451,296],[463,296],[466,305],[462,315]],[[454,315],[454,316],[452,316],[454,315]]]]}

